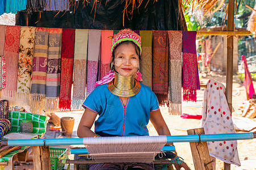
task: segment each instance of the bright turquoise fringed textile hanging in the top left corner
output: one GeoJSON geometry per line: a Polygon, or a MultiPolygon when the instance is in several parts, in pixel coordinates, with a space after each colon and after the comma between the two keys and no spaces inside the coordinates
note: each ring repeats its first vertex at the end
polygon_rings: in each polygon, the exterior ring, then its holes
{"type": "Polygon", "coordinates": [[[27,0],[6,0],[5,13],[17,14],[18,11],[26,10],[27,0]]]}

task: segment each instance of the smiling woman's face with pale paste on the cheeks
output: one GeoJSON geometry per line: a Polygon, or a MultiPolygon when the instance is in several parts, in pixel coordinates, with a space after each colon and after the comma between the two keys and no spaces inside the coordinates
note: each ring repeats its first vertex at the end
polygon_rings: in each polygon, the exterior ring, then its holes
{"type": "Polygon", "coordinates": [[[134,75],[139,67],[139,56],[132,42],[120,44],[114,51],[114,67],[122,76],[134,75]]]}

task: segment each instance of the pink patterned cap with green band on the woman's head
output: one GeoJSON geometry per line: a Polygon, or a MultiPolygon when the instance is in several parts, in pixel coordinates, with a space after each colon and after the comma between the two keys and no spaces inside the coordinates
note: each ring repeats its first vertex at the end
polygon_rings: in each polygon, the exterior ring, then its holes
{"type": "Polygon", "coordinates": [[[131,31],[131,29],[122,29],[116,35],[114,35],[114,41],[111,48],[112,56],[115,46],[117,46],[117,44],[119,44],[122,41],[133,41],[138,46],[139,53],[141,54],[141,36],[131,31]]]}

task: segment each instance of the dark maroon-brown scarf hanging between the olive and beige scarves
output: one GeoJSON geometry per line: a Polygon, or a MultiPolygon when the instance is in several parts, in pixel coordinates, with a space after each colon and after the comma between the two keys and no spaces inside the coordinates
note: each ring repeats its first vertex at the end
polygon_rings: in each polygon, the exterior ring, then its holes
{"type": "Polygon", "coordinates": [[[168,105],[169,42],[167,31],[153,31],[152,90],[159,105],[168,105]]]}

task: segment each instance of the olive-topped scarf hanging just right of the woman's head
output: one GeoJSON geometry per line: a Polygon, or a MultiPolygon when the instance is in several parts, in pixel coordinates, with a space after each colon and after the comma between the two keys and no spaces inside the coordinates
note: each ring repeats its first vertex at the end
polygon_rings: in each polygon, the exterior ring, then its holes
{"type": "Polygon", "coordinates": [[[140,31],[141,35],[141,62],[139,70],[142,73],[142,79],[145,86],[152,89],[152,31],[140,31]]]}

